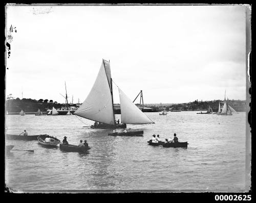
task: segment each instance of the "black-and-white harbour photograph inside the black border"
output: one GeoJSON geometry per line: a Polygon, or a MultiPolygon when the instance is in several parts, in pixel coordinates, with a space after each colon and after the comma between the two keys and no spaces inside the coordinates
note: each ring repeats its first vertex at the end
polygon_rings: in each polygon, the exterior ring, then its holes
{"type": "Polygon", "coordinates": [[[246,4],[6,4],[6,192],[249,192],[250,52],[246,4]]]}

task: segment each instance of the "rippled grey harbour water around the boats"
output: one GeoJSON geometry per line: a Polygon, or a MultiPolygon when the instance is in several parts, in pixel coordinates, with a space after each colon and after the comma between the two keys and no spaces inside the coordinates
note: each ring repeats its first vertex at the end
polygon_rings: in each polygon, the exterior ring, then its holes
{"type": "MultiPolygon", "coordinates": [[[[93,121],[71,116],[7,115],[7,133],[49,134],[70,144],[87,139],[88,154],[45,148],[37,141],[8,141],[6,183],[27,190],[224,190],[245,191],[246,114],[145,113],[155,124],[127,125],[144,137],[108,136],[111,130],[84,128],[93,121]],[[176,133],[188,148],[148,145],[153,134],[176,133]]],[[[117,115],[120,118],[120,115],[117,115]]]]}

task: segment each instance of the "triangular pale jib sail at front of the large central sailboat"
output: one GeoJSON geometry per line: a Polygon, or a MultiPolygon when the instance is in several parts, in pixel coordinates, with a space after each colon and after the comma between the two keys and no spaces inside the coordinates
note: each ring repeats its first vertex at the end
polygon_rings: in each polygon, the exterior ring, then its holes
{"type": "Polygon", "coordinates": [[[126,124],[154,123],[118,88],[121,107],[121,121],[126,124]]]}

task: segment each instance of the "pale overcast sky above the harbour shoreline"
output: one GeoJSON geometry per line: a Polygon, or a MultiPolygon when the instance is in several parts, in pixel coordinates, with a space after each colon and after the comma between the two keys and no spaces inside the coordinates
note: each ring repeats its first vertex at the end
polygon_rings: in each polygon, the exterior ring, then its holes
{"type": "Polygon", "coordinates": [[[65,103],[66,82],[69,102],[81,103],[105,59],[114,83],[131,100],[142,90],[144,104],[224,99],[225,90],[244,100],[245,25],[242,5],[6,6],[6,35],[16,29],[6,95],[65,103]]]}

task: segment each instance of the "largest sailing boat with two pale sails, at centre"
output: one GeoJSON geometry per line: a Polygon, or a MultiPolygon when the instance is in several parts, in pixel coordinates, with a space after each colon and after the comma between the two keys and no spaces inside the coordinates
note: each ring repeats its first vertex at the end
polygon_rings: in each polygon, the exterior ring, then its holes
{"type": "MultiPolygon", "coordinates": [[[[103,123],[102,126],[98,127],[103,129],[126,128],[126,124],[154,123],[118,87],[121,123],[117,124],[114,114],[112,84],[110,62],[103,59],[89,95],[74,114],[103,123]]],[[[97,128],[97,126],[92,125],[91,128],[97,128]]]]}

